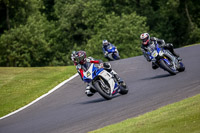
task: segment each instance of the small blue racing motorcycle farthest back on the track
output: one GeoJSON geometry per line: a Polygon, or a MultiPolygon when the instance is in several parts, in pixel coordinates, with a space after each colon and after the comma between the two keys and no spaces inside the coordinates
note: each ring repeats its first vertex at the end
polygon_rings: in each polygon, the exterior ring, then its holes
{"type": "Polygon", "coordinates": [[[108,52],[107,58],[109,61],[120,59],[119,52],[115,46],[109,46],[107,52],[108,52]]]}

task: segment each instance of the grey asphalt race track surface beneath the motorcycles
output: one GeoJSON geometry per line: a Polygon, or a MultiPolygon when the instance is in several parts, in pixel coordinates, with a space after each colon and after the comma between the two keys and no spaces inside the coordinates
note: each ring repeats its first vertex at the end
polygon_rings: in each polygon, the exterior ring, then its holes
{"type": "Polygon", "coordinates": [[[186,70],[170,76],[153,70],[143,56],[112,62],[126,81],[127,95],[104,100],[84,94],[79,77],[30,107],[0,120],[0,133],[85,133],[136,117],[200,93],[200,45],[176,49],[186,70]]]}

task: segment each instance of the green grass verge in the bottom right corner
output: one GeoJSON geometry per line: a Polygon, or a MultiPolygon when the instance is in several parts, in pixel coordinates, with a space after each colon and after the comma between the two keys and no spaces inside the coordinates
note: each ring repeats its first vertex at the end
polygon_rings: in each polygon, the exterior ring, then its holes
{"type": "Polygon", "coordinates": [[[90,133],[200,133],[200,95],[90,133]]]}

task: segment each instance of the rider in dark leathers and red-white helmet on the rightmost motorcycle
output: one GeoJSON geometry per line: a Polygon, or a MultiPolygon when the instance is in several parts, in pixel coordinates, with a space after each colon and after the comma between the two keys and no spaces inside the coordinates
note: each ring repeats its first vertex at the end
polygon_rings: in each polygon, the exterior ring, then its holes
{"type": "MultiPolygon", "coordinates": [[[[148,55],[148,51],[149,51],[149,49],[151,49],[151,45],[155,44],[156,42],[159,44],[159,46],[161,48],[169,50],[179,61],[182,60],[179,57],[179,55],[177,53],[175,53],[173,44],[171,44],[171,43],[165,43],[165,41],[163,39],[158,39],[156,37],[150,37],[150,35],[148,33],[142,33],[140,35],[140,39],[142,40],[141,50],[142,50],[143,55],[144,55],[144,57],[146,58],[147,61],[149,61],[149,62],[151,61],[151,59],[150,59],[150,57],[148,55]]],[[[157,69],[158,66],[155,65],[152,62],[152,68],[153,69],[157,69]]]]}

